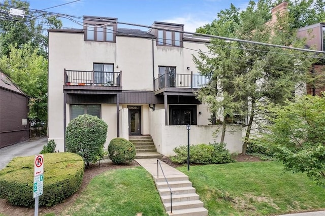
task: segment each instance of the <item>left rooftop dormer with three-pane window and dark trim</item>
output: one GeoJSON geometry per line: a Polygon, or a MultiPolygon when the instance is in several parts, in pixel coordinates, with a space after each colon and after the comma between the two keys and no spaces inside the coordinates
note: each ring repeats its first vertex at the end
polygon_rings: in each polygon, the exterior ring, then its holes
{"type": "Polygon", "coordinates": [[[85,41],[116,41],[116,18],[84,16],[85,41]]]}

